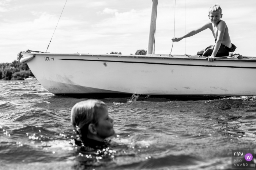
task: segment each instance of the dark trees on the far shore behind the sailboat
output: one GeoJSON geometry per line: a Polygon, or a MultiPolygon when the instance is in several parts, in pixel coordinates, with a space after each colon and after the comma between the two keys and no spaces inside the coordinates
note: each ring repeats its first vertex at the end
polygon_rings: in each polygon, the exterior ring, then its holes
{"type": "MultiPolygon", "coordinates": [[[[30,76],[34,76],[30,71],[27,63],[20,63],[19,60],[22,58],[23,51],[20,51],[17,55],[17,60],[14,60],[11,63],[0,63],[0,79],[1,80],[24,80],[30,76]]],[[[110,54],[122,54],[121,52],[110,52],[110,54]]],[[[137,50],[135,55],[146,55],[146,50],[137,50]]],[[[132,54],[131,54],[132,55],[132,54]]]]}

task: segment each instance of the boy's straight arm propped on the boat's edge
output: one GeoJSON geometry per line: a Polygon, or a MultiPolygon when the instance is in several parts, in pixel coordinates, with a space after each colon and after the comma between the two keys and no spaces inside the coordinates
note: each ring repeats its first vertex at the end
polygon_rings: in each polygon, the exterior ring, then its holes
{"type": "Polygon", "coordinates": [[[217,52],[219,51],[219,47],[221,47],[222,39],[224,36],[224,32],[226,29],[226,23],[224,21],[220,21],[218,25],[218,36],[217,36],[217,41],[215,42],[214,49],[212,51],[212,55],[210,57],[207,57],[209,62],[213,62],[215,59],[215,56],[217,55],[217,52]]]}

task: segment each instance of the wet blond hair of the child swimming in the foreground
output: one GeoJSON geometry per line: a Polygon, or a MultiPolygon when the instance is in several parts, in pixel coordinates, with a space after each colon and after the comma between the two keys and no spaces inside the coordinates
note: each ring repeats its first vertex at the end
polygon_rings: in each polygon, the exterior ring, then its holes
{"type": "Polygon", "coordinates": [[[106,104],[100,100],[90,99],[76,103],[71,110],[71,123],[76,133],[80,137],[82,137],[82,134],[87,135],[89,124],[93,123],[97,126],[99,112],[104,109],[108,108],[106,104]]]}

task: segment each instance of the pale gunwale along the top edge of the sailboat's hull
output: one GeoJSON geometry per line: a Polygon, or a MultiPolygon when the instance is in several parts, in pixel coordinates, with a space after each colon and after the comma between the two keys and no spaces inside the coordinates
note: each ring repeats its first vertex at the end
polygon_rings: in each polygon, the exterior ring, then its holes
{"type": "MultiPolygon", "coordinates": [[[[150,55],[118,55],[118,54],[80,54],[80,53],[41,53],[41,52],[23,52],[22,54],[30,55],[75,55],[75,56],[103,56],[103,57],[124,57],[124,58],[152,58],[152,59],[180,59],[180,60],[206,60],[203,57],[193,55],[172,55],[167,54],[150,54],[150,55]]],[[[232,62],[256,62],[256,57],[244,58],[215,58],[216,61],[232,61],[232,62]],[[252,58],[252,59],[251,59],[252,58]]]]}

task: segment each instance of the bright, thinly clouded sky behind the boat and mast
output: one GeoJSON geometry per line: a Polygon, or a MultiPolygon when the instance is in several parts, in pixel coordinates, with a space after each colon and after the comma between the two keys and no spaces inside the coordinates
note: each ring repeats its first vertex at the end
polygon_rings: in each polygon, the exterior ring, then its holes
{"type": "MultiPolygon", "coordinates": [[[[0,0],[0,63],[20,51],[46,51],[66,0],[0,0]]],[[[235,53],[256,56],[256,0],[176,0],[175,36],[206,23],[219,3],[235,53]]],[[[152,0],[67,0],[47,52],[135,54],[147,50],[152,0]]],[[[155,54],[170,54],[175,0],[158,0],[155,54]]],[[[214,44],[207,29],[173,45],[172,54],[196,54],[214,44]]]]}

